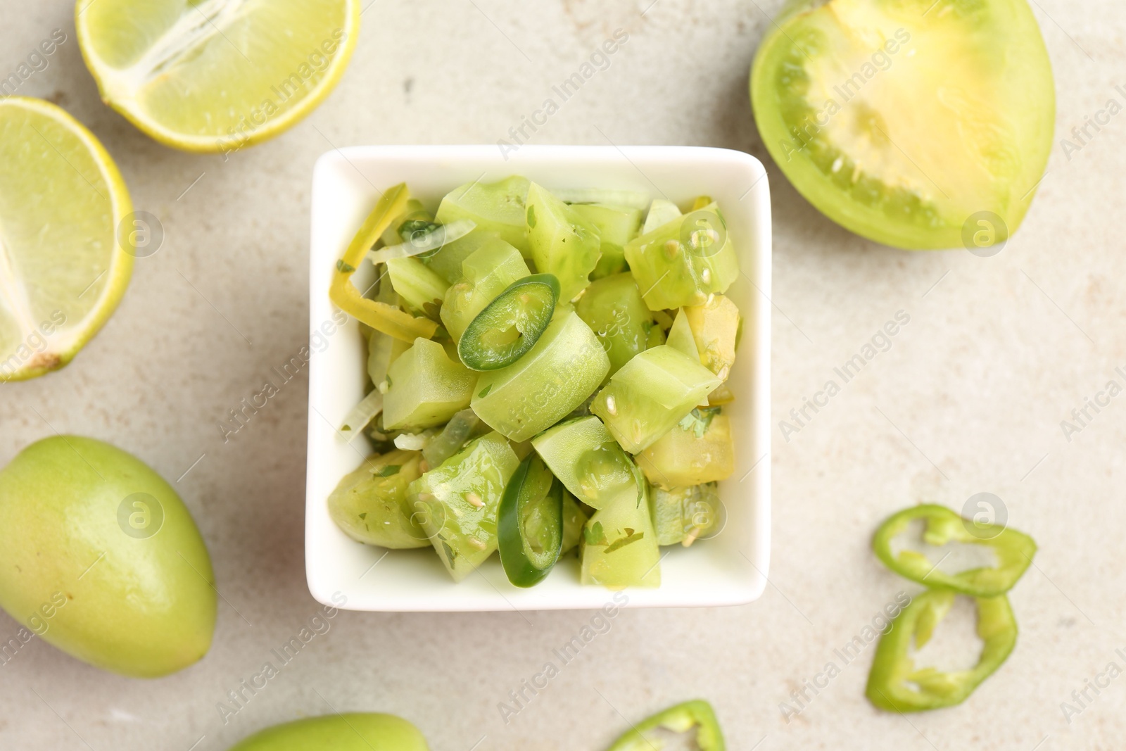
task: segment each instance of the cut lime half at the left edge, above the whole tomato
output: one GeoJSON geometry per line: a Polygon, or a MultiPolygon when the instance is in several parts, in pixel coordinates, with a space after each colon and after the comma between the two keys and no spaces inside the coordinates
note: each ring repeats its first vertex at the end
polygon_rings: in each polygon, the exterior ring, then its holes
{"type": "Polygon", "coordinates": [[[0,99],[0,381],[61,368],[117,307],[133,256],[125,181],[81,123],[42,99],[0,99]]]}

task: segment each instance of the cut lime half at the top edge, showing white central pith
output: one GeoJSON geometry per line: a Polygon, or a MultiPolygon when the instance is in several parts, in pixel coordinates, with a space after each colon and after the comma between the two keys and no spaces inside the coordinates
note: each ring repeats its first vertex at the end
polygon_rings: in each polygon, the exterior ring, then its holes
{"type": "Polygon", "coordinates": [[[161,143],[229,154],[329,95],[359,0],[78,0],[75,25],[106,104],[161,143]]]}

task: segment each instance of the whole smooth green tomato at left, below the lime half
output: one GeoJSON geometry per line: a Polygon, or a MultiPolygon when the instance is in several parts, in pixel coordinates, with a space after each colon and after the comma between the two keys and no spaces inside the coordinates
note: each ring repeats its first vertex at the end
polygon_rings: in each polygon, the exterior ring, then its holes
{"type": "Polygon", "coordinates": [[[207,653],[214,574],[160,475],[109,444],[57,436],[0,471],[0,607],[79,660],[152,678],[207,653]]]}

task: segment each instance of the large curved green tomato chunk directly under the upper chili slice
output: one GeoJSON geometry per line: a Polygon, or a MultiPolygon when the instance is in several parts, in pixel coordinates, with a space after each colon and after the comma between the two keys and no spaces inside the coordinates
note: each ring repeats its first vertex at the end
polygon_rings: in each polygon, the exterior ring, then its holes
{"type": "Polygon", "coordinates": [[[473,390],[473,411],[494,430],[524,441],[582,404],[609,369],[595,332],[571,313],[552,321],[519,360],[482,373],[473,390]]]}

